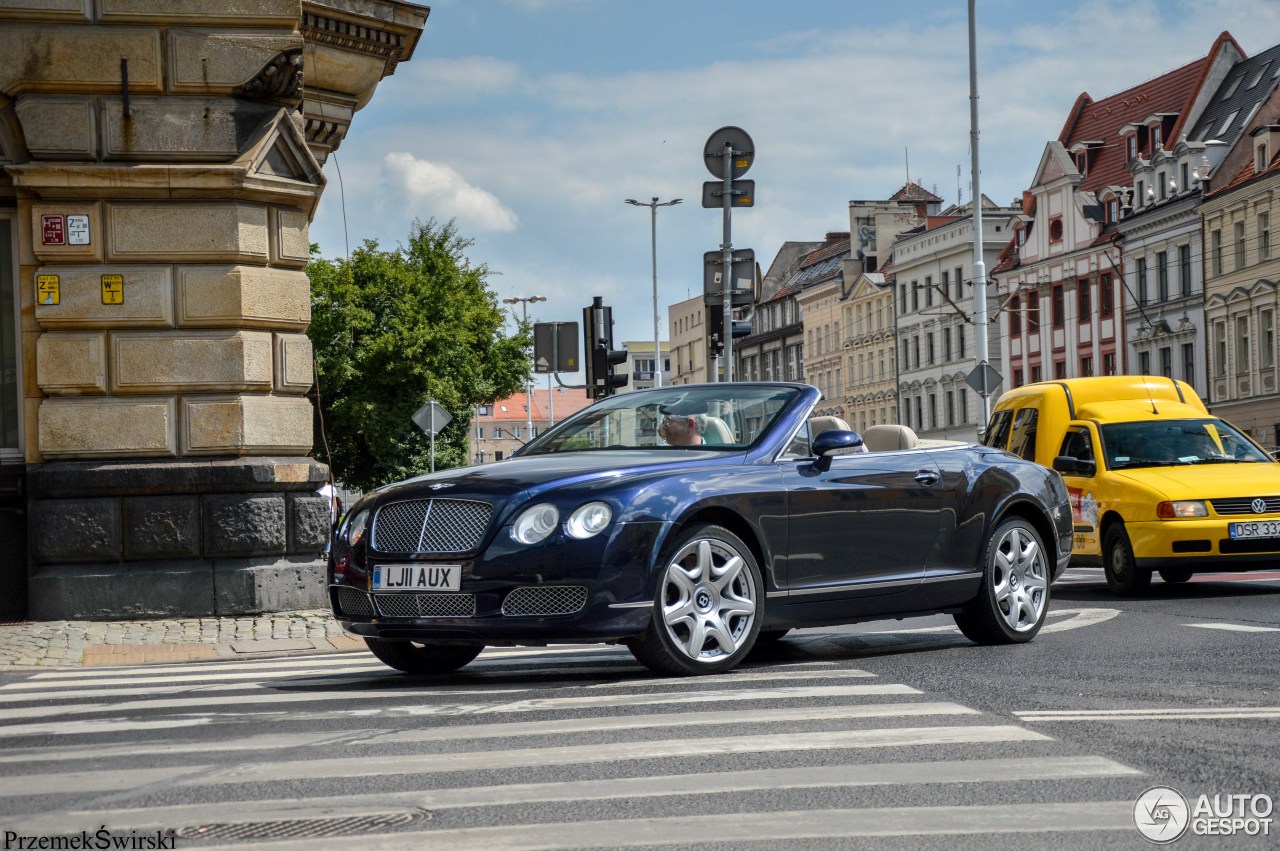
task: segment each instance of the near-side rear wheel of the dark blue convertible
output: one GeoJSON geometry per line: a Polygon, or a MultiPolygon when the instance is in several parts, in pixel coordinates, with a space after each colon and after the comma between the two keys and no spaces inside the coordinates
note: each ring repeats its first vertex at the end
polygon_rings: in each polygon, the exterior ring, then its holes
{"type": "Polygon", "coordinates": [[[1050,558],[1039,532],[1021,517],[1000,523],[987,543],[982,587],[956,626],[975,644],[1023,644],[1044,626],[1050,558]]]}

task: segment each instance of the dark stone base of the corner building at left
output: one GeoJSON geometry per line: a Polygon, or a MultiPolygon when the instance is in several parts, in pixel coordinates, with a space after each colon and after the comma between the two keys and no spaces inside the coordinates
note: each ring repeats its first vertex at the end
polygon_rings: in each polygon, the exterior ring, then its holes
{"type": "Polygon", "coordinates": [[[323,608],[328,470],[311,458],[56,462],[27,475],[28,614],[323,608]]]}

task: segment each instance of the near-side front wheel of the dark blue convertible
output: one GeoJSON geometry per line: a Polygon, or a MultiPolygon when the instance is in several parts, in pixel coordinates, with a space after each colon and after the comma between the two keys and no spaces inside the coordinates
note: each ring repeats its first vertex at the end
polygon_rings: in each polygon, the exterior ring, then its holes
{"type": "Polygon", "coordinates": [[[659,562],[649,627],[627,648],[657,673],[722,673],[755,644],[763,600],[751,549],[721,526],[690,526],[659,562]]]}

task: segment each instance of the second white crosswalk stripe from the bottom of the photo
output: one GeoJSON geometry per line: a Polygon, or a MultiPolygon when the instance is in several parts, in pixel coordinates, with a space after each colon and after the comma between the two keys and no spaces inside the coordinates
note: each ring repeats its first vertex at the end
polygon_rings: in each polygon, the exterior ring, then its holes
{"type": "Polygon", "coordinates": [[[605,801],[668,795],[724,795],[732,792],[801,790],[824,787],[874,787],[932,783],[1001,783],[1025,781],[1071,781],[1096,777],[1140,777],[1102,756],[1033,756],[1023,759],[975,759],[933,763],[879,763],[856,765],[805,765],[800,768],[748,769],[707,774],[625,777],[613,779],[552,783],[507,783],[467,788],[421,790],[312,797],[307,800],[248,800],[147,806],[146,809],[72,810],[32,815],[6,824],[19,833],[55,834],[68,824],[111,824],[115,831],[148,831],[211,822],[266,822],[426,810],[472,809],[520,804],[605,801]]]}

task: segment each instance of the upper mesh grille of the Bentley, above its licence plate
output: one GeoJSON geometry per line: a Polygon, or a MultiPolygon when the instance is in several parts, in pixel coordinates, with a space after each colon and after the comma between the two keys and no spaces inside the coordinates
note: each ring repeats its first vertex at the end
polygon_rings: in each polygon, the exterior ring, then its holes
{"type": "Polygon", "coordinates": [[[470,499],[411,499],[374,516],[381,553],[466,553],[480,546],[493,505],[470,499]]]}

